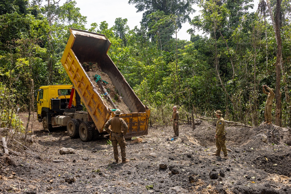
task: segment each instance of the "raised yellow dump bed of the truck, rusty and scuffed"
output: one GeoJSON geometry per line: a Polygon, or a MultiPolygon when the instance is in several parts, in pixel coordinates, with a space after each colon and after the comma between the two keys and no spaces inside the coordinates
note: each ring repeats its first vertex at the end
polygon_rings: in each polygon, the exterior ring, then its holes
{"type": "Polygon", "coordinates": [[[105,123],[114,113],[102,99],[83,64],[97,64],[98,68],[110,77],[112,85],[128,107],[129,113],[120,115],[129,127],[125,138],[147,135],[150,110],[142,104],[108,56],[110,41],[102,34],[77,29],[70,29],[70,32],[61,63],[86,106],[96,129],[101,133],[105,123]]]}

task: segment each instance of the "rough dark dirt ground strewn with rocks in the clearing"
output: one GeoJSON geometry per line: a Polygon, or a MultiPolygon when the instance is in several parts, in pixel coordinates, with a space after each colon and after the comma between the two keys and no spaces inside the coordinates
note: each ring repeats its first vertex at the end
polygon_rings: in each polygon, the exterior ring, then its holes
{"type": "MultiPolygon", "coordinates": [[[[26,126],[28,114],[20,118],[26,126]]],[[[113,164],[108,135],[82,142],[70,138],[64,127],[47,134],[34,115],[29,129],[36,138],[26,152],[7,138],[8,148],[19,156],[1,153],[0,193],[291,193],[288,129],[226,124],[226,146],[232,152],[224,160],[212,156],[214,125],[199,123],[194,130],[181,124],[173,140],[167,140],[173,137],[172,126],[149,127],[147,136],[127,140],[130,162],[113,164]],[[61,155],[64,148],[70,152],[61,155]]]]}

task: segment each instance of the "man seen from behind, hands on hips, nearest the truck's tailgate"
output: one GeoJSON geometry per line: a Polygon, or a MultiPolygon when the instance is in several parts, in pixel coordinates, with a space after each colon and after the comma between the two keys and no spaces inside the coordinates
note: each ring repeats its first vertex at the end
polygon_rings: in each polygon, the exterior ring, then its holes
{"type": "Polygon", "coordinates": [[[118,149],[117,149],[117,143],[119,144],[120,151],[121,151],[121,157],[122,157],[122,163],[127,163],[129,160],[126,159],[126,153],[125,153],[125,139],[123,135],[127,133],[128,127],[126,122],[119,117],[121,115],[121,111],[117,109],[115,111],[115,116],[107,121],[105,124],[105,131],[111,134],[111,142],[113,146],[113,154],[115,163],[118,163],[118,149]],[[111,129],[109,129],[109,125],[111,125],[111,129]],[[122,128],[124,131],[122,131],[122,128]]]}

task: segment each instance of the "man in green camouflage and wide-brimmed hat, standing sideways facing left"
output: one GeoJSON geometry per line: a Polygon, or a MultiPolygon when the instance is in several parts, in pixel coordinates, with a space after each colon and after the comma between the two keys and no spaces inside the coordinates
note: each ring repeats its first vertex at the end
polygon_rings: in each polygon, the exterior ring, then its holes
{"type": "Polygon", "coordinates": [[[212,155],[220,156],[220,152],[222,149],[223,154],[224,154],[223,159],[228,159],[226,145],[225,145],[226,136],[225,136],[225,128],[224,128],[224,119],[222,118],[221,111],[216,111],[215,115],[217,117],[217,122],[216,122],[216,130],[215,130],[214,137],[215,137],[215,144],[216,144],[217,150],[212,155]]]}

